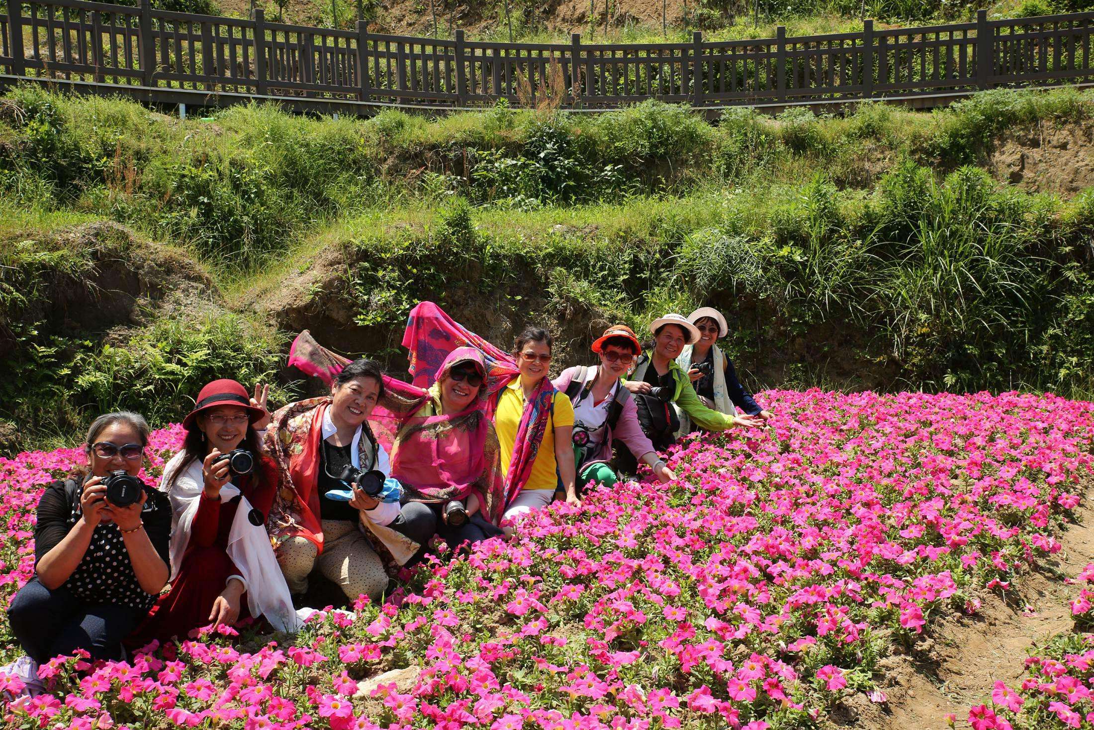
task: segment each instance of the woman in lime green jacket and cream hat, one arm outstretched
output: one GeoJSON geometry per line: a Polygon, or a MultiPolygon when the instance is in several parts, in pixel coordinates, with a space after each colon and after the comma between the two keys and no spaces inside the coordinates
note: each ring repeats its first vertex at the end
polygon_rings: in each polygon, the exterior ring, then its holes
{"type": "Polygon", "coordinates": [[[676,362],[684,347],[699,339],[699,331],[682,314],[657,317],[650,323],[650,332],[653,333],[653,352],[638,358],[635,372],[625,384],[639,396],[639,422],[654,448],[664,450],[676,441],[679,419],[673,406],[708,431],[764,425],[758,416],[719,413],[699,401],[690,378],[676,362]]]}

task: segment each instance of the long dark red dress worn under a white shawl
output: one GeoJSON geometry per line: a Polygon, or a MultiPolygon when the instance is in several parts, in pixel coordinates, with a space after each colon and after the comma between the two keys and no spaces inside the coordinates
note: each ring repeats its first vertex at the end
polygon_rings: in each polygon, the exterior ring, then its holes
{"type": "MultiPolygon", "coordinates": [[[[259,463],[255,474],[236,477],[240,482],[236,486],[265,519],[274,503],[277,467],[269,457],[264,456],[259,463]],[[256,474],[263,478],[255,479],[256,474]]],[[[140,648],[152,639],[162,642],[172,637],[190,638],[190,631],[209,625],[212,604],[223,592],[228,577],[240,575],[228,556],[228,536],[240,500],[213,500],[207,498],[203,491],[198,499],[190,541],[178,575],[172,581],[171,590],[160,595],[144,622],[126,639],[129,647],[140,648]]],[[[240,618],[249,615],[247,594],[244,593],[240,598],[240,618]]]]}

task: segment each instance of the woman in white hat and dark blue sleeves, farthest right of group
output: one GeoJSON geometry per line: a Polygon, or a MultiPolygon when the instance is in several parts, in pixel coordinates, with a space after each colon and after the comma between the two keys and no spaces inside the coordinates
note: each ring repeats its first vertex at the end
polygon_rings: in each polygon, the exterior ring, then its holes
{"type": "MultiPolygon", "coordinates": [[[[765,422],[770,420],[771,412],[760,408],[753,394],[737,379],[733,360],[717,345],[717,340],[730,332],[722,313],[711,306],[700,306],[691,312],[688,321],[699,332],[699,339],[684,346],[676,363],[687,372],[702,404],[730,416],[743,410],[749,416],[759,416],[765,422]]],[[[693,428],[690,417],[683,409],[677,409],[677,415],[680,419],[677,436],[698,428],[693,428]]]]}

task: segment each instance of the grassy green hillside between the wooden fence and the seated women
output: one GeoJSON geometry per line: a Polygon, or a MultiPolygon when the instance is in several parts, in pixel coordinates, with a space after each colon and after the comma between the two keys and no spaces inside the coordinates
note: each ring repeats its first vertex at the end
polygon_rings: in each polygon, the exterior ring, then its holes
{"type": "Polygon", "coordinates": [[[499,344],[548,324],[559,366],[610,321],[710,303],[756,386],[1086,397],[1092,113],[1089,93],[998,91],[718,124],[655,103],[183,123],[20,90],[0,102],[0,356],[31,386],[5,393],[5,441],[65,440],[112,404],[163,422],[218,374],[290,397],[302,327],[397,369],[423,298],[499,344]],[[110,316],[66,313],[103,291],[125,294],[110,316]]]}

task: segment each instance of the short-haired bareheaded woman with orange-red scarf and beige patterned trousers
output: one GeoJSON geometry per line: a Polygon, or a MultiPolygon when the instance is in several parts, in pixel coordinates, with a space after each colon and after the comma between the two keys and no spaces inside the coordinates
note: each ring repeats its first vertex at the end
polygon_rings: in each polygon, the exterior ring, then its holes
{"type": "Polygon", "coordinates": [[[279,470],[267,528],[293,594],[318,568],[350,601],[377,599],[433,535],[433,514],[424,505],[400,509],[400,485],[369,426],[385,392],[380,366],[339,364],[328,382],[330,395],[289,404],[266,431],[279,470]]]}

